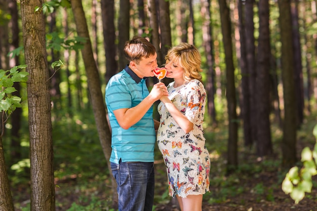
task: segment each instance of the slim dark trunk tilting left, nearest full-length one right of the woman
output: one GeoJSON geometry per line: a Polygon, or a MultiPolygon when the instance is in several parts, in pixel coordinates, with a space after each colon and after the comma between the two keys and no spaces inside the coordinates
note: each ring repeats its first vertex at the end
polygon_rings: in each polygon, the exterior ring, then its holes
{"type": "Polygon", "coordinates": [[[230,174],[238,164],[237,160],[237,116],[235,99],[234,65],[232,55],[231,21],[226,0],[219,0],[221,30],[226,63],[226,98],[229,116],[229,138],[227,151],[227,174],[230,174]]]}

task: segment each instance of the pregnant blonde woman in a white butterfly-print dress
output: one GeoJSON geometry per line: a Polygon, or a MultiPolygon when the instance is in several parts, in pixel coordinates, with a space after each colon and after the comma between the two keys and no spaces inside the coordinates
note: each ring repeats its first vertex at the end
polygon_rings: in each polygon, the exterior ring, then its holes
{"type": "Polygon", "coordinates": [[[161,97],[157,107],[156,140],[167,169],[169,195],[177,197],[182,211],[201,211],[210,171],[203,135],[206,91],[201,56],[194,46],[181,43],[165,59],[166,77],[174,81],[168,85],[169,96],[161,97]]]}

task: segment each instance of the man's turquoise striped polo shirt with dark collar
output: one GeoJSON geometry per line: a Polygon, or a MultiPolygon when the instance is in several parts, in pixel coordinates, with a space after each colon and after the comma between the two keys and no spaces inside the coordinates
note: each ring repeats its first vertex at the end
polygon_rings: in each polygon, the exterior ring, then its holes
{"type": "Polygon", "coordinates": [[[148,95],[145,79],[139,78],[128,66],[107,83],[105,100],[112,129],[110,162],[154,161],[153,106],[128,130],[121,128],[113,114],[116,109],[137,106],[148,95]]]}

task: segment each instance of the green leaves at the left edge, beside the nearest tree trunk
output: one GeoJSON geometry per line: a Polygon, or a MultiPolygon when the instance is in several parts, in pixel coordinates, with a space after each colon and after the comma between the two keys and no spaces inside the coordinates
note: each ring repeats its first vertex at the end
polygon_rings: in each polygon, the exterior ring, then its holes
{"type": "Polygon", "coordinates": [[[27,81],[28,73],[19,71],[25,67],[26,65],[19,65],[10,70],[0,69],[0,112],[5,111],[11,114],[16,108],[21,107],[21,98],[12,93],[17,91],[13,87],[14,82],[27,81]]]}

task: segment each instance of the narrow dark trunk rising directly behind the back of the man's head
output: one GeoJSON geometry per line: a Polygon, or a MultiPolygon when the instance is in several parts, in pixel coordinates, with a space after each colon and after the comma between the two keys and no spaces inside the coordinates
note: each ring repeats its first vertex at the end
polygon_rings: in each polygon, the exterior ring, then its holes
{"type": "MultiPolygon", "coordinates": [[[[112,7],[111,4],[109,4],[109,7],[112,7]]],[[[125,46],[126,41],[130,39],[130,1],[129,0],[120,0],[118,31],[119,31],[118,33],[119,69],[123,69],[128,64],[128,60],[126,59],[124,55],[123,48],[125,46]]]]}

